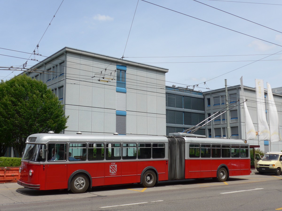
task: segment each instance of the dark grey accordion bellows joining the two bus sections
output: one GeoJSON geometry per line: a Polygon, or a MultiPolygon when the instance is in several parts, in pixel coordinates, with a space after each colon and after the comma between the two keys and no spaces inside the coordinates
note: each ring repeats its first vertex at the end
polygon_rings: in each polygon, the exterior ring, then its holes
{"type": "Polygon", "coordinates": [[[185,140],[168,138],[168,179],[185,178],[185,140]]]}

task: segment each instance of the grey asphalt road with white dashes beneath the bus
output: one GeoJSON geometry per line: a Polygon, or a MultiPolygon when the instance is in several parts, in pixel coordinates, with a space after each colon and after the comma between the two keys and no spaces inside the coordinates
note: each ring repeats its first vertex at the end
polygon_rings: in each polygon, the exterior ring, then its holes
{"type": "Polygon", "coordinates": [[[83,194],[0,184],[0,210],[282,210],[282,177],[271,174],[96,187],[83,194]]]}

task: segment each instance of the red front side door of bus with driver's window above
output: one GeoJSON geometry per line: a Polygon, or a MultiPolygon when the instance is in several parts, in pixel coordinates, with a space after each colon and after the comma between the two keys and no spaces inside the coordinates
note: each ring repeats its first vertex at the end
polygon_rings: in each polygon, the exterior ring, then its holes
{"type": "Polygon", "coordinates": [[[46,169],[46,190],[67,188],[67,144],[48,144],[46,169]]]}

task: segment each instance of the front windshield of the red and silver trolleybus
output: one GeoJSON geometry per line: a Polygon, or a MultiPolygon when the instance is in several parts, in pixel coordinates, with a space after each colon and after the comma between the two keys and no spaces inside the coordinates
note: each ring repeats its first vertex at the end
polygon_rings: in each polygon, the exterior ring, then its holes
{"type": "Polygon", "coordinates": [[[38,161],[43,162],[46,159],[46,145],[44,144],[27,144],[25,146],[25,151],[23,152],[23,159],[28,161],[38,161]],[[42,155],[40,155],[40,150],[43,149],[42,155]]]}

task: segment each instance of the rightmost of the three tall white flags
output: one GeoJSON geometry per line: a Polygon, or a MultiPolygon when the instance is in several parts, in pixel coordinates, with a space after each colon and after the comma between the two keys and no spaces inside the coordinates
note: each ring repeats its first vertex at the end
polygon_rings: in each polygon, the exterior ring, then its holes
{"type": "Polygon", "coordinates": [[[270,84],[267,84],[267,98],[268,98],[268,117],[269,117],[269,129],[270,129],[270,141],[279,141],[279,120],[278,112],[274,102],[272,90],[270,84]]]}

